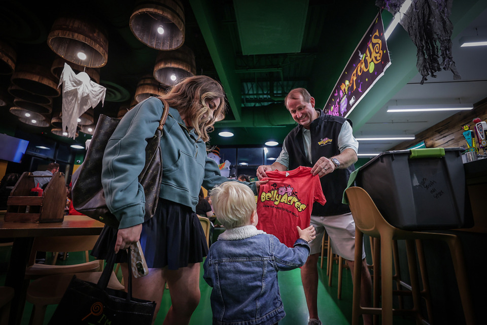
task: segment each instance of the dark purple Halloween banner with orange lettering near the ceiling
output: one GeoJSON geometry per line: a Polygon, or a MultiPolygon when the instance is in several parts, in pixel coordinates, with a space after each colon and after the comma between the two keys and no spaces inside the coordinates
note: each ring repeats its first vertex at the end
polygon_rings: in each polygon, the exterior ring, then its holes
{"type": "Polygon", "coordinates": [[[347,117],[390,64],[379,12],[346,63],[323,109],[325,113],[347,117]]]}

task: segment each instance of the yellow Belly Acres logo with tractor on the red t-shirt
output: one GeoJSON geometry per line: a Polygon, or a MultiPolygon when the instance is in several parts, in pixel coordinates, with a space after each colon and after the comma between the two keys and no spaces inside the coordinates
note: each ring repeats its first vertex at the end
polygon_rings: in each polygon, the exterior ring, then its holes
{"type": "Polygon", "coordinates": [[[281,186],[276,188],[276,184],[272,184],[274,189],[271,189],[268,192],[262,191],[260,194],[260,201],[265,203],[269,203],[269,205],[264,205],[264,208],[275,208],[277,210],[283,210],[285,212],[291,213],[295,217],[298,215],[296,214],[296,210],[298,212],[302,212],[306,209],[306,205],[299,201],[297,196],[297,192],[294,192],[294,188],[291,185],[288,186],[281,186]],[[273,205],[272,205],[273,204],[273,205]],[[293,209],[293,207],[295,209],[293,209]]]}

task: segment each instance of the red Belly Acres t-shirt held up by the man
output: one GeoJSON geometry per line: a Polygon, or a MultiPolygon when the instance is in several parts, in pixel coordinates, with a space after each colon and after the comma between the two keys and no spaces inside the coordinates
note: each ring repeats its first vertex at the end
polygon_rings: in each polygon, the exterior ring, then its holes
{"type": "Polygon", "coordinates": [[[311,168],[302,166],[292,171],[266,174],[262,180],[269,181],[260,185],[257,198],[257,229],[293,247],[299,238],[296,226],[309,227],[313,203],[326,203],[320,178],[311,174],[311,168]]]}

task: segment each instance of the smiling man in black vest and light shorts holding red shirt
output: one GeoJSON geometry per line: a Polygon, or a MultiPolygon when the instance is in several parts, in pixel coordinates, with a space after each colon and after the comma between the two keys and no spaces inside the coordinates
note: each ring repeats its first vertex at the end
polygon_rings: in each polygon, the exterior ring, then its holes
{"type": "MultiPolygon", "coordinates": [[[[331,239],[333,252],[342,256],[354,274],[355,222],[347,205],[341,203],[350,174],[355,170],[358,142],[352,134],[351,122],[342,117],[315,110],[315,99],[304,88],[291,90],[284,100],[298,125],[284,140],[283,150],[272,165],[259,166],[257,177],[267,171],[312,167],[311,173],[321,178],[326,204],[317,203],[311,212],[316,239],[309,242],[311,253],[301,268],[304,295],[309,312],[308,325],[321,325],[318,317],[317,262],[325,233],[331,239]]],[[[372,282],[362,252],[361,305],[370,306],[372,282]]],[[[371,315],[363,315],[364,323],[372,323],[371,315]]]]}

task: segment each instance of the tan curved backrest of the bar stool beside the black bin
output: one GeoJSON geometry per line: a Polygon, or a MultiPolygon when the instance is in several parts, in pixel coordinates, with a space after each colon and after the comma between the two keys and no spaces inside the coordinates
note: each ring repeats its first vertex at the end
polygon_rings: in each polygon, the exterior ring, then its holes
{"type": "Polygon", "coordinates": [[[379,237],[382,230],[393,232],[396,230],[384,219],[365,189],[354,186],[347,188],[345,193],[349,200],[355,226],[362,233],[371,237],[379,237]]]}

